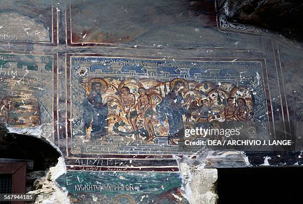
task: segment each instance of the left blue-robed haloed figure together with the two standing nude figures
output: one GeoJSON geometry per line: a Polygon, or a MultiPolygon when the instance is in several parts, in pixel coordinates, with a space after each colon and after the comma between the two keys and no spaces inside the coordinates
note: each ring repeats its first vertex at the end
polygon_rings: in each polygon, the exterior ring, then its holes
{"type": "MultiPolygon", "coordinates": [[[[104,90],[106,90],[105,86],[106,85],[101,82],[93,82],[91,84],[92,91],[84,102],[83,119],[85,121],[86,132],[87,129],[90,128],[90,133],[98,137],[103,137],[108,134],[106,119],[108,115],[108,103],[112,102],[112,100],[103,102],[101,95],[104,94],[104,90]]],[[[130,93],[130,89],[127,86],[120,89],[119,97],[126,112],[127,122],[131,126],[132,131],[138,130],[136,124],[137,119],[139,117],[144,118],[144,126],[149,135],[148,138],[145,139],[145,142],[148,143],[155,138],[151,122],[154,114],[152,110],[152,98],[147,95],[147,90],[144,87],[139,88],[138,93],[140,95],[137,99],[138,111],[136,110],[135,95],[130,93]]]]}

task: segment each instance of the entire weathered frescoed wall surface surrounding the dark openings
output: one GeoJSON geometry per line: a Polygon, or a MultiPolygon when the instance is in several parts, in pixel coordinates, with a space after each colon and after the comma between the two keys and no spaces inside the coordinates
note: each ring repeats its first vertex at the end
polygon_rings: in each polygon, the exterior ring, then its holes
{"type": "Polygon", "coordinates": [[[215,168],[303,163],[302,152],[185,145],[228,140],[185,137],[201,127],[277,139],[274,114],[289,113],[286,138],[302,149],[302,52],[272,53],[267,29],[216,16],[213,0],[4,1],[0,122],[62,152],[28,189],[36,203],[212,204],[215,168]]]}

